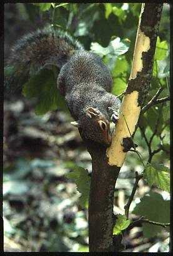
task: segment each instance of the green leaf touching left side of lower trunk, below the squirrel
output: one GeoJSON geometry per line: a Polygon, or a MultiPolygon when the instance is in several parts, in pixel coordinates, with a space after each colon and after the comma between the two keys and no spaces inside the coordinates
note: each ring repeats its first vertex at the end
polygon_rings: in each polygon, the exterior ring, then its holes
{"type": "Polygon", "coordinates": [[[79,203],[83,208],[87,208],[91,178],[88,176],[86,169],[80,166],[76,166],[76,164],[71,164],[71,169],[73,169],[73,171],[71,173],[65,174],[65,176],[68,179],[74,179],[77,186],[77,191],[81,193],[79,203]]]}

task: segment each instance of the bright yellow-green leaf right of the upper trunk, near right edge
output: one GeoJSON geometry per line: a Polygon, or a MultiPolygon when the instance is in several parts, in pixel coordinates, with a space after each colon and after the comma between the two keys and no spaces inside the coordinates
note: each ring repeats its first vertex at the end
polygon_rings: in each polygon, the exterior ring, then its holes
{"type": "Polygon", "coordinates": [[[157,37],[157,43],[156,43],[156,53],[154,56],[155,60],[164,60],[167,56],[167,41],[160,40],[159,36],[157,37]]]}

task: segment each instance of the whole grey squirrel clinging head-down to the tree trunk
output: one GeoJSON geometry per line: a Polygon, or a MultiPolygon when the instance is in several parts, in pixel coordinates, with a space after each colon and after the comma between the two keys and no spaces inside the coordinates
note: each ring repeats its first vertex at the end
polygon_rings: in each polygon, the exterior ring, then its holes
{"type": "Polygon", "coordinates": [[[5,84],[17,87],[32,70],[56,65],[60,72],[57,88],[64,95],[67,107],[82,131],[82,137],[111,144],[110,122],[117,121],[120,100],[111,92],[111,74],[96,54],[64,31],[51,26],[24,36],[12,48],[8,65],[14,73],[5,84]]]}

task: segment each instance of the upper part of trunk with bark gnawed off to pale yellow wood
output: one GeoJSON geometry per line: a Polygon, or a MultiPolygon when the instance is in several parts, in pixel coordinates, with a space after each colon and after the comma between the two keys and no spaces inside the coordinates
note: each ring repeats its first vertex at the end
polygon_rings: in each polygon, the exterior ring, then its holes
{"type": "Polygon", "coordinates": [[[142,103],[152,78],[157,33],[163,4],[142,4],[129,82],[122,100],[119,122],[107,149],[108,163],[121,167],[126,157],[122,142],[136,131],[142,103]]]}

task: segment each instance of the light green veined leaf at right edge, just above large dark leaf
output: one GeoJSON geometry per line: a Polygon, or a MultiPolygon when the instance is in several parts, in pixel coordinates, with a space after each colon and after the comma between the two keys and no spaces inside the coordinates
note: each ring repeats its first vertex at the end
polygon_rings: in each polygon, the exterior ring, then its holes
{"type": "Polygon", "coordinates": [[[144,178],[149,186],[156,185],[164,191],[170,192],[169,168],[164,164],[147,164],[144,169],[144,178]]]}

